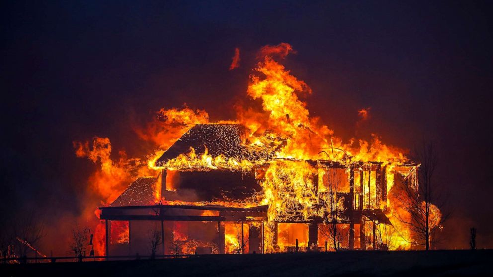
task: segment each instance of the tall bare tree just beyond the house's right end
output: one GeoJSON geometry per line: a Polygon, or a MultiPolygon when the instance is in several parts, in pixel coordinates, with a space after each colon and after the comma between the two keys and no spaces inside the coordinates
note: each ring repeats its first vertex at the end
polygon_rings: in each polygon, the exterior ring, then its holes
{"type": "Polygon", "coordinates": [[[417,188],[400,184],[402,193],[397,196],[399,208],[409,216],[397,216],[397,219],[409,226],[414,234],[413,243],[425,246],[426,250],[434,247],[437,232],[446,217],[440,212],[444,206],[444,198],[435,180],[435,170],[438,165],[438,153],[432,142],[423,140],[416,147],[413,156],[419,162],[417,188]]]}

